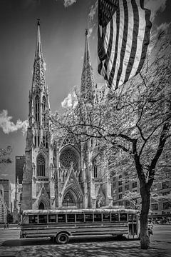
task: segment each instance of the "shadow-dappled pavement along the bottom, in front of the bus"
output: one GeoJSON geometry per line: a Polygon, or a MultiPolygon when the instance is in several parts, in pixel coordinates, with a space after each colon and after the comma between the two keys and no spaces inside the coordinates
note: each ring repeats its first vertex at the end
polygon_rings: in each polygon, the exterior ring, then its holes
{"type": "Polygon", "coordinates": [[[151,241],[148,250],[140,248],[140,241],[0,246],[1,257],[170,257],[170,252],[171,243],[160,241],[151,241]]]}

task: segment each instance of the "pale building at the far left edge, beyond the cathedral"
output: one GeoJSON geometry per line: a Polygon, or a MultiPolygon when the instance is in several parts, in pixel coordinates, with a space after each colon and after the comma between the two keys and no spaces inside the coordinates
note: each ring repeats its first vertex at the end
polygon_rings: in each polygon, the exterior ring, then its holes
{"type": "Polygon", "coordinates": [[[4,187],[4,201],[9,211],[11,211],[11,183],[9,179],[0,179],[0,185],[4,187]]]}

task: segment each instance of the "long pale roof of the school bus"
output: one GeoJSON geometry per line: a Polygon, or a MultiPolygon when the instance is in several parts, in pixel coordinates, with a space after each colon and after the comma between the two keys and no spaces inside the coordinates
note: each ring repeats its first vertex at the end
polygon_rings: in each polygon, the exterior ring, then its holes
{"type": "Polygon", "coordinates": [[[74,213],[138,213],[138,210],[128,209],[128,208],[58,208],[58,209],[48,209],[48,210],[24,210],[23,215],[27,214],[74,214],[74,213]]]}

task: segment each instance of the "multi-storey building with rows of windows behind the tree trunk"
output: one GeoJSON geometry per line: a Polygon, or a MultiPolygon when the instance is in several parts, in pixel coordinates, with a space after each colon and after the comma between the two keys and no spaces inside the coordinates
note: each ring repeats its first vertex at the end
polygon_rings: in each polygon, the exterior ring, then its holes
{"type": "MultiPolygon", "coordinates": [[[[138,179],[127,179],[119,176],[113,177],[112,183],[113,205],[125,208],[140,208],[140,185],[138,179]],[[130,197],[125,194],[133,192],[130,197]],[[132,198],[131,198],[132,197],[132,198]]],[[[154,219],[171,218],[171,179],[156,181],[151,188],[151,202],[149,217],[154,219]]]]}

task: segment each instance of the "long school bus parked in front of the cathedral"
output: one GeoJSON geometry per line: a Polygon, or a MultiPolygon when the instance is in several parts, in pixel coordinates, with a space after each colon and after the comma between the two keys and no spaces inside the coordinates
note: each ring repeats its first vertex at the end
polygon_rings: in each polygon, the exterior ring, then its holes
{"type": "Polygon", "coordinates": [[[26,210],[20,238],[50,237],[68,243],[71,236],[113,235],[138,238],[138,211],[127,208],[26,210]]]}

